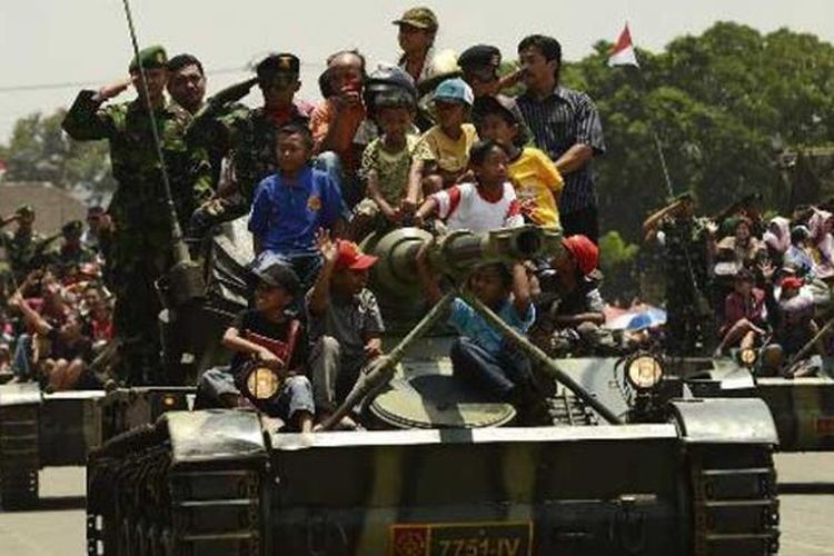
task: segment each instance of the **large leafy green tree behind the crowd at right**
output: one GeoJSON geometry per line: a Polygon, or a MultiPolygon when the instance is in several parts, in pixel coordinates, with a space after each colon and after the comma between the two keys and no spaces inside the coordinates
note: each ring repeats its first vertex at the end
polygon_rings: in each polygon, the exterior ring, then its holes
{"type": "Polygon", "coordinates": [[[603,229],[627,240],[639,240],[642,220],[668,197],[653,130],[675,192],[694,189],[705,212],[754,191],[784,209],[773,138],[834,140],[834,46],[814,36],[719,22],[661,53],[639,50],[639,70],[608,68],[609,50],[597,43],[563,69],[563,82],[597,103],[607,146],[595,165],[603,229]]]}

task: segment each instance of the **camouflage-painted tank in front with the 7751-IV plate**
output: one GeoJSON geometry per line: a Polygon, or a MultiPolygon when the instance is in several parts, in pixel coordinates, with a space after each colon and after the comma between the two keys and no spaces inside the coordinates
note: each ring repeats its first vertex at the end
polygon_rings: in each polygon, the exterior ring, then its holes
{"type": "Polygon", "coordinates": [[[456,383],[435,325],[460,295],[500,327],[463,277],[552,252],[558,235],[458,232],[434,245],[430,265],[454,286],[425,310],[415,256],[428,240],[404,228],[365,242],[380,258],[385,317],[410,321],[331,418],[359,405],[371,429],[302,435],[255,410],[168,411],[90,455],[88,554],[777,552],[777,437],[764,403],[694,398],[647,354],[552,360],[518,337],[554,383],[553,425],[519,426],[512,406],[456,383]]]}

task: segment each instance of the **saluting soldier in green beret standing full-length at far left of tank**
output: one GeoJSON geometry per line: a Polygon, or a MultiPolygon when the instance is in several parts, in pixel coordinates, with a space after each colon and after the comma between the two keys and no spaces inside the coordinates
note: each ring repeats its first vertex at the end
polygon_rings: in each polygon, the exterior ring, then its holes
{"type": "Polygon", "coordinates": [[[111,252],[112,286],[117,296],[115,325],[121,341],[127,380],[148,384],[165,380],[159,364],[158,314],[155,281],[172,265],[169,221],[161,161],[156,151],[148,102],[153,107],[171,196],[180,226],[211,196],[211,172],[205,151],[189,149],[185,132],[190,115],[166,103],[167,57],[161,47],[139,52],[147,76],[148,99],[141,86],[139,62],[130,63],[130,80],[81,91],[63,129],[77,140],[107,139],[118,188],[109,214],[115,235],[111,252]],[[139,96],[118,105],[101,105],[133,83],[139,96]]]}

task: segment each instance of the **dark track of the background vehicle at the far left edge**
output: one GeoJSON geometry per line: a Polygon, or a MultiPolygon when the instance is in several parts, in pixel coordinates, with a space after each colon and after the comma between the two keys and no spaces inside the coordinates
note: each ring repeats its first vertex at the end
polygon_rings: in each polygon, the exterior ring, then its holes
{"type": "Polygon", "coordinates": [[[0,407],[0,505],[26,509],[38,503],[38,406],[0,407]]]}

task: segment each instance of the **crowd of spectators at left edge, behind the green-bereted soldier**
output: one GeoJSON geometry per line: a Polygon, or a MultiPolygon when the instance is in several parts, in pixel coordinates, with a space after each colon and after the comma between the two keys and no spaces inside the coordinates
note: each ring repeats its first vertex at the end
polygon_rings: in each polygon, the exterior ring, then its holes
{"type": "Polygon", "coordinates": [[[100,250],[102,218],[101,208],[91,207],[86,229],[81,221],[70,221],[60,235],[40,239],[31,207],[20,207],[4,220],[17,221],[18,229],[2,238],[13,262],[3,272],[0,292],[2,380],[37,380],[48,391],[102,386],[93,361],[106,356],[113,340],[113,299],[105,286],[100,250]],[[23,242],[23,236],[31,241],[23,242]]]}

